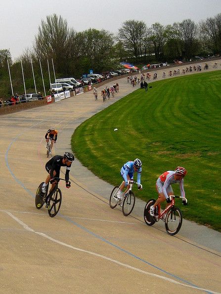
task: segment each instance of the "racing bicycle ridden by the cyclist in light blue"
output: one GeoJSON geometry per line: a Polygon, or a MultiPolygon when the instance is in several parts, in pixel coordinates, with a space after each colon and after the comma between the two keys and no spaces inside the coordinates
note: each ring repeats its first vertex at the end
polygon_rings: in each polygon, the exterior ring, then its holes
{"type": "MultiPolygon", "coordinates": [[[[126,193],[123,193],[122,199],[117,198],[117,192],[120,190],[120,186],[115,186],[111,192],[109,200],[109,204],[112,209],[115,208],[117,205],[120,205],[122,207],[122,212],[125,217],[129,216],[132,213],[135,204],[135,196],[132,191],[133,184],[139,183],[128,181],[128,184],[130,185],[129,190],[126,193]]],[[[142,189],[141,184],[140,186],[140,188],[142,189]]]]}

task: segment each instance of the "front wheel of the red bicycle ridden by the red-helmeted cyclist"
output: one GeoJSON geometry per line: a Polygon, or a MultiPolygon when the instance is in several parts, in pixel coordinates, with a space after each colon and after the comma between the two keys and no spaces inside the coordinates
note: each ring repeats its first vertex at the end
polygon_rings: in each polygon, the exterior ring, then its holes
{"type": "Polygon", "coordinates": [[[178,207],[172,207],[165,219],[165,227],[169,235],[176,235],[182,225],[182,213],[178,207]]]}

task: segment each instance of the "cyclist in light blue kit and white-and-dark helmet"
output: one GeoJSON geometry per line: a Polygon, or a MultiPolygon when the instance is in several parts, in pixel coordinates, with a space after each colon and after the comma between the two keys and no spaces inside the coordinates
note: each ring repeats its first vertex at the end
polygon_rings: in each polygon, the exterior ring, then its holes
{"type": "Polygon", "coordinates": [[[140,178],[141,178],[141,168],[142,162],[136,158],[134,161],[128,161],[123,165],[121,168],[121,176],[123,178],[123,183],[120,185],[119,191],[117,192],[117,198],[120,200],[123,196],[123,189],[124,187],[127,187],[125,193],[129,190],[130,186],[128,184],[128,181],[133,181],[133,174],[134,172],[137,172],[137,186],[138,189],[141,189],[140,185],[140,178]]]}

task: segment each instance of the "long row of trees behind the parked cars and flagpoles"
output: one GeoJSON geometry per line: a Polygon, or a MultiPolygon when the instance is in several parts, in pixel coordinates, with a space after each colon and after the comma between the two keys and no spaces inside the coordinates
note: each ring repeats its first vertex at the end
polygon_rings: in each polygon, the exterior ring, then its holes
{"type": "MultiPolygon", "coordinates": [[[[23,92],[20,60],[22,60],[27,91],[34,89],[31,60],[38,89],[42,90],[41,60],[46,87],[49,88],[47,60],[53,59],[57,77],[80,77],[93,72],[118,69],[121,61],[135,65],[189,60],[194,56],[221,54],[221,13],[195,23],[191,19],[163,26],[155,23],[125,21],[118,34],[88,29],[76,32],[56,14],[42,20],[32,48],[27,48],[12,63],[8,49],[0,50],[0,97],[10,96],[7,61],[11,68],[13,87],[23,92]]],[[[52,71],[52,69],[51,69],[52,71]]]]}

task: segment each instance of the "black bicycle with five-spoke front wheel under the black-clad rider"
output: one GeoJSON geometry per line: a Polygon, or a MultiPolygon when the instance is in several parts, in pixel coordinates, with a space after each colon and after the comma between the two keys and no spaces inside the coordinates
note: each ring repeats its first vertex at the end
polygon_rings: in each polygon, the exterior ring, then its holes
{"type": "Polygon", "coordinates": [[[35,206],[37,209],[41,209],[44,205],[44,203],[47,206],[47,212],[48,215],[53,218],[56,216],[58,213],[60,207],[61,207],[61,199],[62,199],[62,194],[61,190],[58,188],[58,182],[60,180],[65,181],[65,179],[60,179],[60,178],[54,178],[55,180],[55,186],[51,189],[49,193],[48,192],[48,187],[49,187],[49,182],[46,186],[46,192],[42,192],[42,186],[44,184],[41,183],[37,189],[36,196],[35,196],[35,206]]]}

